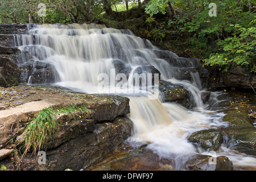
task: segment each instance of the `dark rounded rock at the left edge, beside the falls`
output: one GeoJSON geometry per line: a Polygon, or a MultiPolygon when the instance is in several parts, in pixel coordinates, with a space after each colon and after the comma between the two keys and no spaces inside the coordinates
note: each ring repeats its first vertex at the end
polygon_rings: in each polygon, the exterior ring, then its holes
{"type": "Polygon", "coordinates": [[[16,86],[19,84],[21,70],[7,57],[0,57],[0,86],[16,86]]]}

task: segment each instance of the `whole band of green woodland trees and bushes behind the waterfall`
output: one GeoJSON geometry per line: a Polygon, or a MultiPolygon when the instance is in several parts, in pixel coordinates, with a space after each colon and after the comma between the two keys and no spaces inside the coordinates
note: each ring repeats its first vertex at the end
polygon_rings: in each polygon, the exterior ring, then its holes
{"type": "Polygon", "coordinates": [[[0,0],[0,23],[105,23],[224,71],[256,72],[255,0],[0,0]],[[38,16],[39,3],[46,16],[38,16]],[[209,16],[215,3],[216,16],[209,16]]]}

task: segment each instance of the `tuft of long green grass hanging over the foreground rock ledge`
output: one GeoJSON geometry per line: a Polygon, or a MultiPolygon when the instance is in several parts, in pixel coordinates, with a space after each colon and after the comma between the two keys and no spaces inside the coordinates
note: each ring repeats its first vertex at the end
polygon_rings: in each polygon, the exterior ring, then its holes
{"type": "Polygon", "coordinates": [[[79,107],[71,105],[59,109],[48,107],[39,111],[25,129],[26,135],[23,155],[25,155],[31,147],[36,154],[37,151],[40,151],[42,146],[47,146],[47,140],[49,138],[54,138],[54,134],[57,129],[59,129],[61,123],[57,119],[58,113],[67,114],[68,117],[75,117],[79,112],[89,114],[89,110],[84,105],[79,107]]]}

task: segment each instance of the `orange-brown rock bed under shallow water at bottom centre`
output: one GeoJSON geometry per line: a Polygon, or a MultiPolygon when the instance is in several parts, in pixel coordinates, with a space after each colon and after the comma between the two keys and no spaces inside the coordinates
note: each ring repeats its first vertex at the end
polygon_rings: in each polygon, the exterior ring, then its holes
{"type": "Polygon", "coordinates": [[[174,171],[170,161],[160,159],[153,151],[145,146],[134,148],[122,144],[108,156],[85,170],[89,171],[174,171]],[[154,159],[154,160],[152,160],[154,159]]]}

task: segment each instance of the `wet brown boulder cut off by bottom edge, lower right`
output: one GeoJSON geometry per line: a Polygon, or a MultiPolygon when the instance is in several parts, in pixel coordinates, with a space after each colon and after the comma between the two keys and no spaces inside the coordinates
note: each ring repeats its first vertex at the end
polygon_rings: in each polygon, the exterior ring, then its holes
{"type": "Polygon", "coordinates": [[[233,163],[226,156],[197,154],[185,166],[189,171],[233,171],[233,163]]]}

